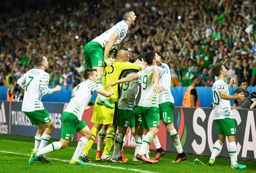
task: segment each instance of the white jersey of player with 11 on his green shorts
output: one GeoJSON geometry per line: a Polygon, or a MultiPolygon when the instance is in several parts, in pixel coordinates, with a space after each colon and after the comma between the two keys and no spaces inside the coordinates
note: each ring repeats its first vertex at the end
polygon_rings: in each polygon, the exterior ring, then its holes
{"type": "Polygon", "coordinates": [[[162,84],[161,84],[162,92],[159,93],[159,104],[165,103],[165,102],[174,103],[174,98],[171,92],[172,76],[171,76],[170,68],[166,63],[162,63],[162,65],[160,65],[159,67],[164,70],[164,73],[162,74],[162,84]]]}

